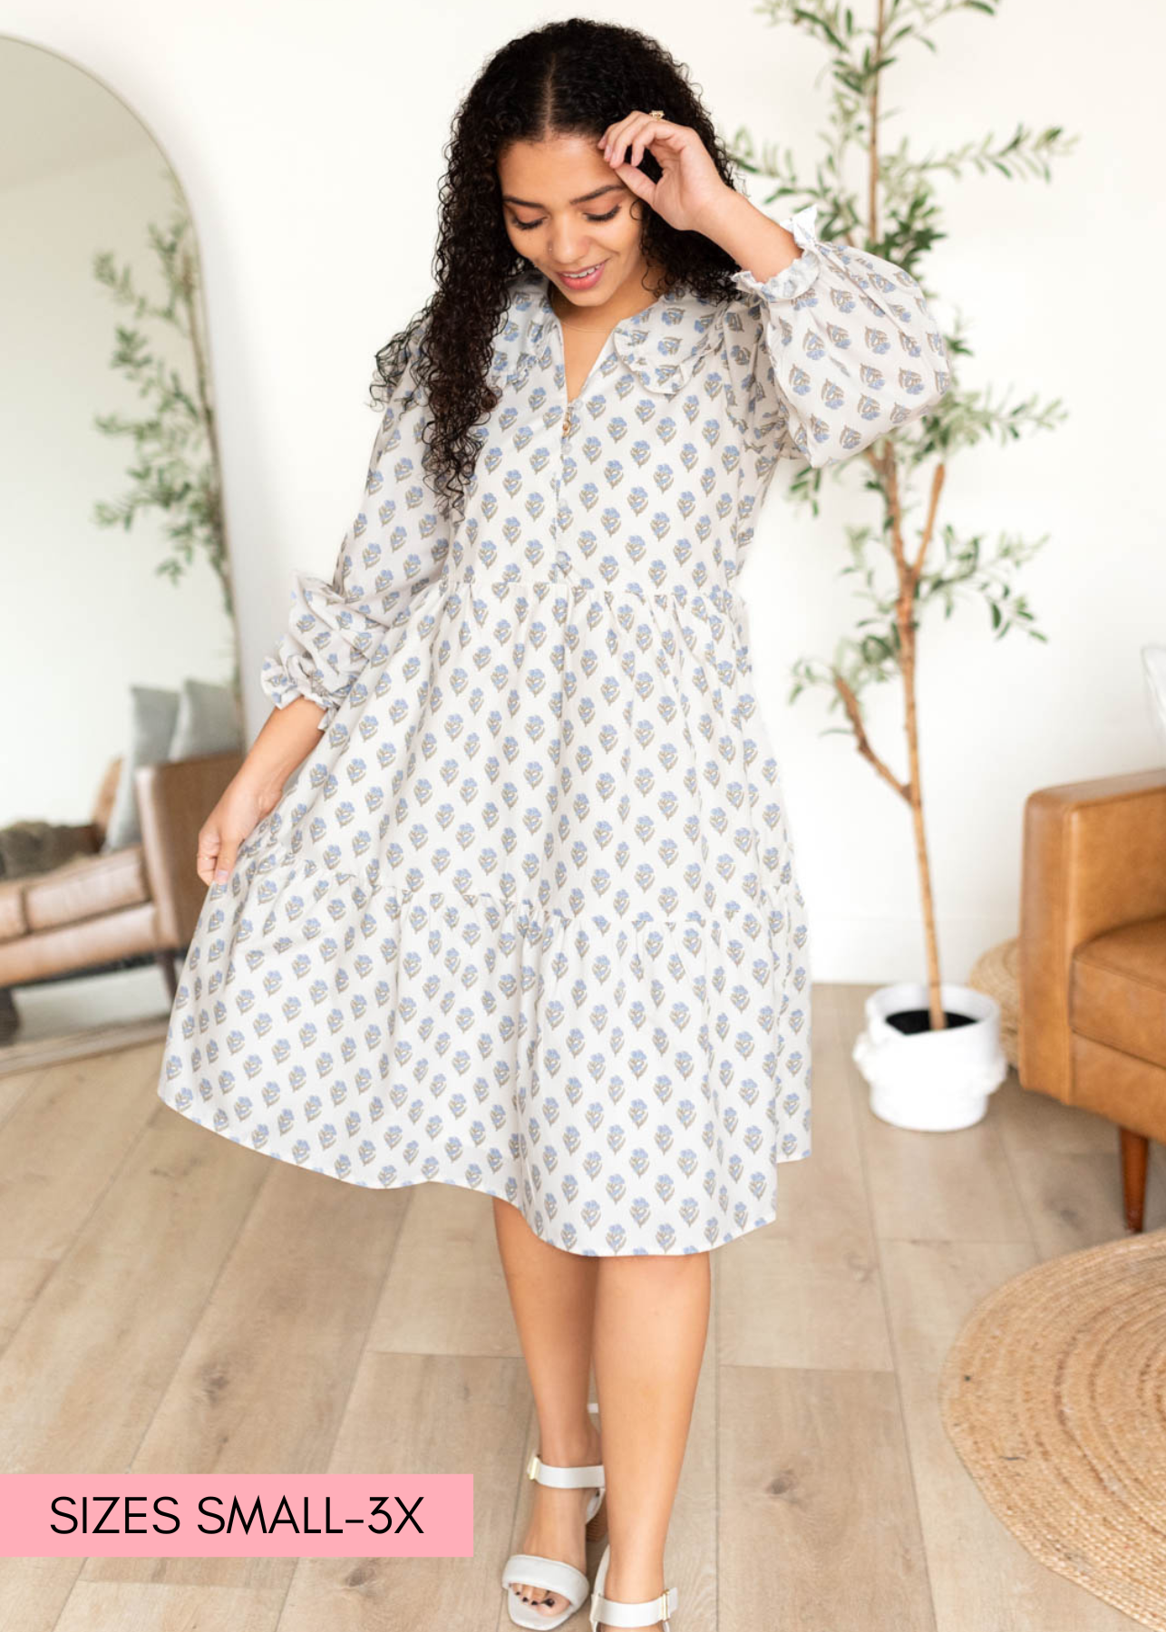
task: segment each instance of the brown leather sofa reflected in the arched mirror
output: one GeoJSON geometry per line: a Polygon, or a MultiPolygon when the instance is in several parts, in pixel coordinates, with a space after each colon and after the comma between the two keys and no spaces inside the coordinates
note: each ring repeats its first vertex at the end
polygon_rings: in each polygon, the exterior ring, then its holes
{"type": "MultiPolygon", "coordinates": [[[[139,765],[142,839],[101,854],[116,785],[111,765],[93,821],[78,829],[87,854],[47,873],[0,880],[0,997],[10,1015],[13,986],[139,953],[154,953],[173,1002],[175,955],[189,945],[207,889],[194,870],[199,827],[242,759],[232,751],[139,765]]],[[[11,1035],[11,1025],[7,1030],[11,1035]]]]}

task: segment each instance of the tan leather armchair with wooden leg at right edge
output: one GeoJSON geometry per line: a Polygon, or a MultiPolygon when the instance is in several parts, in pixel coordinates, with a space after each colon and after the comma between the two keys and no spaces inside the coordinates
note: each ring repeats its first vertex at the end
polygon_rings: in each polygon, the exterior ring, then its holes
{"type": "Polygon", "coordinates": [[[1166,769],[1029,795],[1019,973],[1021,1085],[1117,1124],[1140,1231],[1166,1141],[1166,769]]]}

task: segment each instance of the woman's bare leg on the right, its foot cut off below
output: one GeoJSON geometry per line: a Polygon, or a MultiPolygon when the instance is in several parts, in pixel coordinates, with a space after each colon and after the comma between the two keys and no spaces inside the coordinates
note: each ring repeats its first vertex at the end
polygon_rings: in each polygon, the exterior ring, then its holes
{"type": "Polygon", "coordinates": [[[665,1537],[709,1332],[710,1266],[707,1252],[598,1263],[594,1382],[611,1541],[604,1594],[635,1604],[666,1585],[665,1537]]]}

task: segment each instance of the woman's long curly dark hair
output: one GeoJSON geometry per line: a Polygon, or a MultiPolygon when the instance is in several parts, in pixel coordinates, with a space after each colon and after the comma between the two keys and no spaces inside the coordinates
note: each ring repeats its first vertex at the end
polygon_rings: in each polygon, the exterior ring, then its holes
{"type": "MultiPolygon", "coordinates": [[[[511,142],[603,131],[634,108],[663,108],[665,118],[697,132],[722,180],[733,165],[688,70],[634,28],[568,18],[511,39],[487,62],[457,113],[444,149],[436,289],[412,323],[377,353],[369,387],[385,403],[405,364],[426,395],[425,468],[446,514],[465,501],[480,447],[474,426],[498,401],[487,382],[493,341],[506,312],[506,282],[527,264],[506,233],[498,158],[511,142]]],[[[650,152],[640,170],[658,181],[650,152]]],[[[640,206],[640,248],[665,271],[663,287],[684,284],[705,299],[733,294],[737,263],[699,232],[678,232],[640,206]]]]}

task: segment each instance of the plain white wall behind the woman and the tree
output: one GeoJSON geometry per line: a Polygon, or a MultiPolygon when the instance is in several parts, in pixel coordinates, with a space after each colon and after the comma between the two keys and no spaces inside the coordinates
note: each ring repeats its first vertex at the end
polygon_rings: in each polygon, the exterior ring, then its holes
{"type": "MultiPolygon", "coordinates": [[[[266,713],[263,651],[283,630],[287,574],[332,568],[372,434],[372,351],[428,294],[434,193],[449,116],[511,34],[583,7],[371,0],[152,8],[0,0],[0,31],[39,41],[114,86],[157,134],[199,225],[251,731],[266,713]]],[[[856,10],[862,10],[861,0],[856,10]]],[[[869,8],[867,8],[869,10],[869,8]]],[[[750,0],[674,0],[619,13],[691,65],[722,129],[779,140],[805,173],[820,153],[825,55],[772,29],[750,0]],[[818,83],[815,83],[818,80],[818,83]]],[[[1078,134],[1053,184],[937,173],[949,238],[924,281],[977,356],[965,385],[1061,397],[1071,418],[950,467],[941,521],[967,535],[1039,537],[1021,588],[1048,645],[993,641],[986,612],[929,622],[921,641],[924,800],[947,979],[1016,934],[1021,813],[1052,782],[1161,762],[1140,645],[1166,638],[1161,547],[1159,287],[1163,206],[1145,140],[1166,47],[1159,10],[1115,0],[1012,3],[905,46],[883,108],[885,145],[939,155],[1017,124],[1078,134]],[[1137,39],[1137,51],[1125,41],[1137,39]]],[[[859,178],[856,178],[859,180],[859,178]]],[[[789,666],[851,628],[841,526],[875,512],[859,472],[818,521],[774,493],[746,574],[766,718],[782,759],[820,981],[923,971],[906,808],[841,736],[817,695],[789,707],[789,666]],[[768,605],[794,605],[766,638],[768,605]]],[[[879,749],[905,769],[897,690],[872,698],[879,749]]]]}

